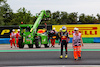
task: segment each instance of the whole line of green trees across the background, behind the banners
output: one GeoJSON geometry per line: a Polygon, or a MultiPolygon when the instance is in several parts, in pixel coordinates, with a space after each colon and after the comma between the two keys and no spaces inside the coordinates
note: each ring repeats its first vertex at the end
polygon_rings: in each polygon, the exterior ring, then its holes
{"type": "MultiPolygon", "coordinates": [[[[17,13],[13,13],[10,6],[6,3],[7,0],[0,0],[0,25],[19,25],[21,22],[24,24],[34,24],[37,17],[33,16],[27,9],[20,8],[17,13]]],[[[47,14],[50,14],[49,19],[43,19],[41,24],[77,24],[77,23],[100,23],[100,14],[97,17],[93,15],[80,14],[77,12],[67,13],[56,11],[51,13],[50,10],[46,10],[47,14]]]]}

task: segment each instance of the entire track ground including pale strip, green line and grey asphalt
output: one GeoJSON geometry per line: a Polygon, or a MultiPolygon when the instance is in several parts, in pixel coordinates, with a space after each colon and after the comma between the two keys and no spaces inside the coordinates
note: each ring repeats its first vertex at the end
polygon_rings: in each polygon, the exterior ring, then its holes
{"type": "MultiPolygon", "coordinates": [[[[100,43],[84,44],[82,47],[82,59],[75,61],[73,58],[72,44],[68,44],[68,59],[60,59],[60,45],[55,48],[32,48],[25,45],[24,49],[10,48],[10,45],[0,45],[1,66],[57,66],[61,65],[100,65],[100,43]]],[[[64,52],[65,53],[65,52],[64,52]]],[[[64,65],[64,66],[63,66],[64,65]]],[[[76,66],[77,67],[77,66],[76,66]]]]}

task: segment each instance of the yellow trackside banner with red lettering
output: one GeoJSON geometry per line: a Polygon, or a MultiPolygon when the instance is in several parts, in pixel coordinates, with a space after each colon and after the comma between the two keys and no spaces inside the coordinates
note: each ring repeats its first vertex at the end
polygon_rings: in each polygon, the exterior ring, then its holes
{"type": "MultiPolygon", "coordinates": [[[[56,31],[59,31],[63,26],[67,27],[67,31],[72,33],[74,28],[79,28],[79,32],[82,34],[82,37],[100,37],[100,24],[77,24],[77,25],[52,25],[52,28],[56,28],[56,31]]],[[[70,37],[73,37],[70,34],[70,37]]]]}

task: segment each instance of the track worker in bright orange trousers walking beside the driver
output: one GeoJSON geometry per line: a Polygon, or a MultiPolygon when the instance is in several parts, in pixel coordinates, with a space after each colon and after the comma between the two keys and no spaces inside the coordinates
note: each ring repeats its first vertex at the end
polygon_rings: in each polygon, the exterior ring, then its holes
{"type": "Polygon", "coordinates": [[[83,46],[83,41],[82,41],[82,35],[79,33],[78,28],[74,28],[74,33],[73,33],[73,49],[74,49],[74,59],[78,60],[81,59],[81,45],[83,46]]]}

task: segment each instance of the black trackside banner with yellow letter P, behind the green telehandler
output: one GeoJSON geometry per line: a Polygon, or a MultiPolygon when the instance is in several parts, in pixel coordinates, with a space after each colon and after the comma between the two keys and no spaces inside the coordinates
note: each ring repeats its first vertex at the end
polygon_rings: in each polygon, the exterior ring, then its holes
{"type": "MultiPolygon", "coordinates": [[[[38,29],[45,28],[44,25],[41,25],[38,27],[38,29]]],[[[19,26],[1,26],[0,27],[0,38],[10,38],[10,33],[12,32],[12,29],[15,29],[15,33],[17,33],[17,30],[19,29],[19,26]]],[[[52,29],[52,26],[47,26],[48,30],[52,29]]]]}

